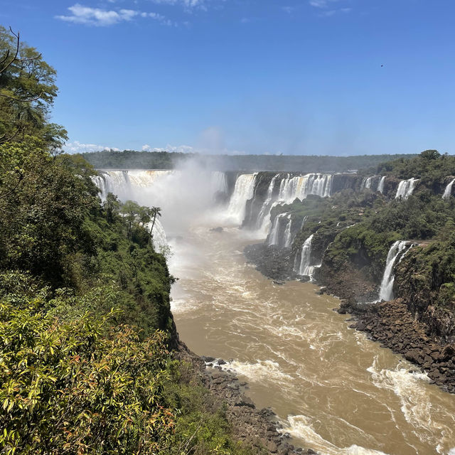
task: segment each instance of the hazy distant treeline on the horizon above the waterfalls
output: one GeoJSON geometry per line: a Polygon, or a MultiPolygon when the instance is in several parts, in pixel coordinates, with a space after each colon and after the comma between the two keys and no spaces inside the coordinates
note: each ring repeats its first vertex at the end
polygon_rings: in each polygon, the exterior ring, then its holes
{"type": "Polygon", "coordinates": [[[82,154],[95,168],[172,169],[189,159],[218,171],[346,172],[378,166],[385,161],[410,159],[415,154],[360,156],[200,155],[168,151],[95,151],[82,154]]]}

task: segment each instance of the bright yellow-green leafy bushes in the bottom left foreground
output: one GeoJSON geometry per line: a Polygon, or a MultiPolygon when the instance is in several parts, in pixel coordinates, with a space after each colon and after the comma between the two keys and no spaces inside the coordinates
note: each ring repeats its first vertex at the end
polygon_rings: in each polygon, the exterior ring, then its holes
{"type": "Polygon", "coordinates": [[[0,304],[0,446],[6,454],[156,454],[174,419],[161,405],[164,333],[139,343],[108,316],[68,323],[33,299],[0,304]]]}

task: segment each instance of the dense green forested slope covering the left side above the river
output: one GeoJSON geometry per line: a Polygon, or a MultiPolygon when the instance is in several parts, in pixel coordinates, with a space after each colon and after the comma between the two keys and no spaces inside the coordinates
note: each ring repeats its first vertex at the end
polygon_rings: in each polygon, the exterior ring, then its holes
{"type": "Polygon", "coordinates": [[[0,28],[0,453],[250,453],[171,355],[154,211],[101,203],[48,122],[57,91],[38,50],[0,28]]]}

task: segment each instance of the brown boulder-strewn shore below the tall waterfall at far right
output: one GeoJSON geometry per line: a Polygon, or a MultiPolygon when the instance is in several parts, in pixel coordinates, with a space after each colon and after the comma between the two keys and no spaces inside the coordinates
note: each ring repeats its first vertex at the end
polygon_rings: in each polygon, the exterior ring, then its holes
{"type": "Polygon", "coordinates": [[[352,328],[400,353],[424,370],[432,382],[455,393],[455,343],[430,336],[428,326],[417,321],[402,299],[361,306],[344,303],[341,313],[356,314],[352,328]]]}

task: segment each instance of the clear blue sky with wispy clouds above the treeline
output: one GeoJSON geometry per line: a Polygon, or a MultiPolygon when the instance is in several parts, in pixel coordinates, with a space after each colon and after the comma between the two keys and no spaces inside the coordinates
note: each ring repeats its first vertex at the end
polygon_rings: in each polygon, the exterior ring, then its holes
{"type": "Polygon", "coordinates": [[[70,151],[455,153],[454,0],[1,0],[0,23],[58,71],[70,151]]]}

